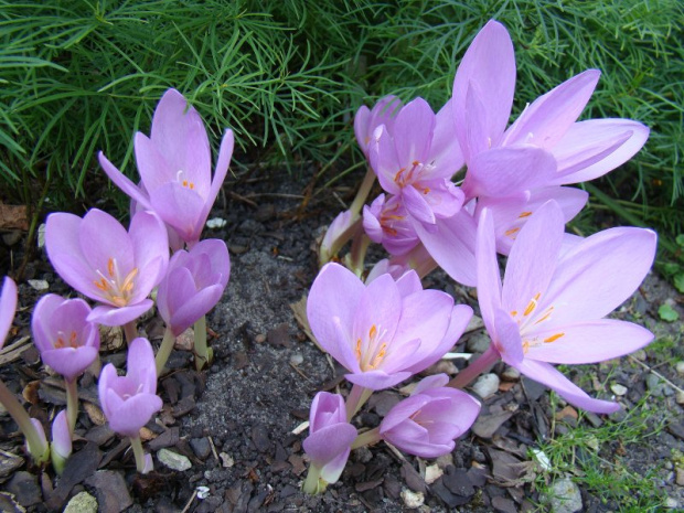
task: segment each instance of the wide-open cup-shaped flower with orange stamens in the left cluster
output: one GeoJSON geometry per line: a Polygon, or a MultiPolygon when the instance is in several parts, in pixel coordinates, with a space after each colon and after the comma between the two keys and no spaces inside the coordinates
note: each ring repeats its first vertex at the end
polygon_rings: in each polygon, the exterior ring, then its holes
{"type": "Polygon", "coordinates": [[[88,321],[105,325],[125,324],[152,308],[148,296],[169,264],[167,229],[151,212],[138,212],[128,233],[97,209],[83,220],[63,212],[51,214],[45,247],[64,281],[104,303],[88,321]]]}

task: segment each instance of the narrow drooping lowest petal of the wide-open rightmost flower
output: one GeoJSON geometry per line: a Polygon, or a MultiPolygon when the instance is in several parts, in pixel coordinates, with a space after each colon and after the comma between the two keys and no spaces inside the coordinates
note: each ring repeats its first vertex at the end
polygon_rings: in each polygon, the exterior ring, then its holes
{"type": "Polygon", "coordinates": [[[525,359],[515,365],[515,368],[535,382],[548,386],[571,405],[584,408],[587,412],[612,414],[620,409],[618,403],[589,397],[585,391],[570,382],[548,363],[525,359]]]}

